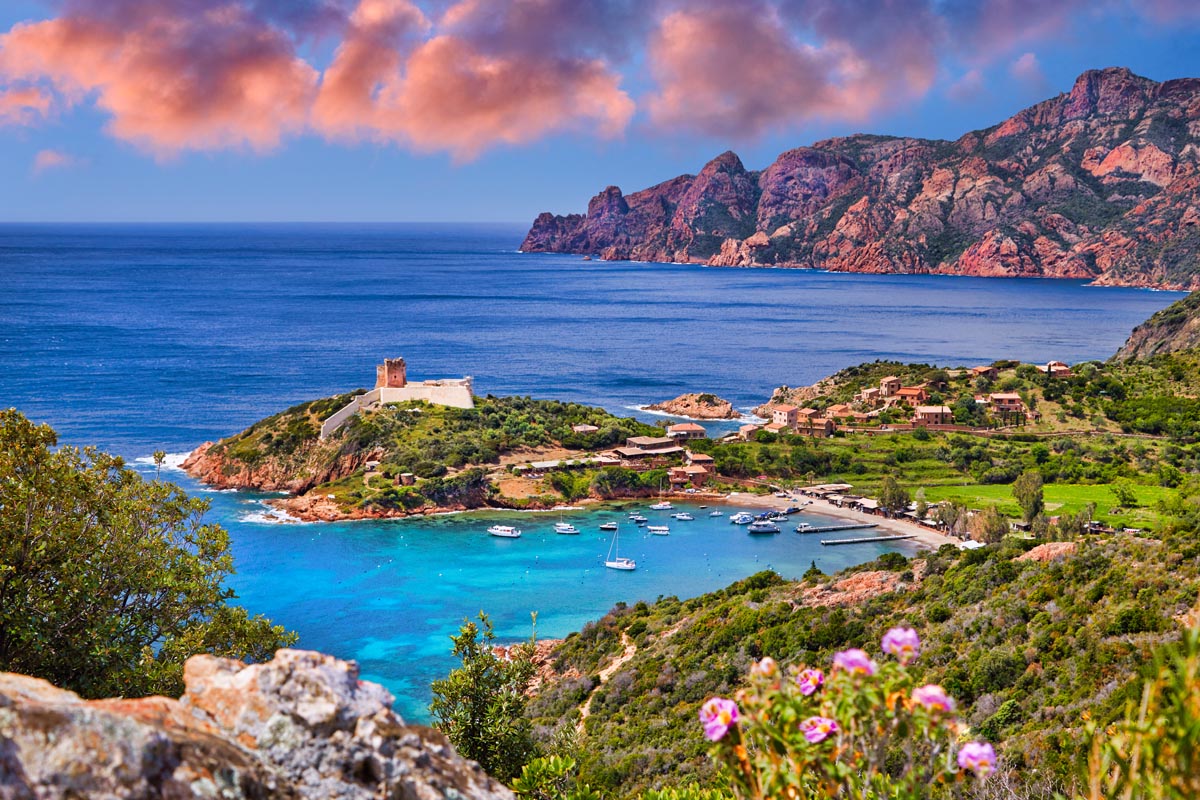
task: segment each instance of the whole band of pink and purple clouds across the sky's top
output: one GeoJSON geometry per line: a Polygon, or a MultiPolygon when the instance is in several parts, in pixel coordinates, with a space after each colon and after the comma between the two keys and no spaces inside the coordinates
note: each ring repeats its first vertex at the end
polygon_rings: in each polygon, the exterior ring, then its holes
{"type": "Polygon", "coordinates": [[[563,132],[752,139],[1044,82],[1080,19],[1200,19],[1182,0],[61,0],[0,34],[0,125],[94,104],[169,158],[288,137],[470,160],[563,132]],[[314,54],[326,54],[323,59],[314,54]],[[1016,55],[1021,53],[1020,55],[1016,55]],[[1015,60],[1014,60],[1015,59],[1015,60]]]}

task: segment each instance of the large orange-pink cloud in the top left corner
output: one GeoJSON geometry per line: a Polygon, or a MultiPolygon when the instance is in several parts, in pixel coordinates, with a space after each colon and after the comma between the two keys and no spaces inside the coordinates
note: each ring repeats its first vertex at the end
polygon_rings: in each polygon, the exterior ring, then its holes
{"type": "Polygon", "coordinates": [[[317,73],[290,40],[235,4],[77,0],[0,36],[0,73],[95,96],[109,132],[156,155],[270,150],[300,130],[317,73]]]}

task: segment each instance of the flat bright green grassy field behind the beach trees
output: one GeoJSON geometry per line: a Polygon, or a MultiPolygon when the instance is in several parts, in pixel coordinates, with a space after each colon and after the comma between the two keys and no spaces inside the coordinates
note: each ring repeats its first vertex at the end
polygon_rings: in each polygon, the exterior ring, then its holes
{"type": "MultiPolygon", "coordinates": [[[[1118,510],[1111,483],[1048,483],[1043,489],[1046,515],[1078,513],[1088,503],[1094,503],[1097,519],[1135,528],[1153,525],[1158,521],[1154,505],[1175,493],[1174,489],[1162,486],[1135,485],[1130,488],[1138,495],[1138,506],[1118,510]]],[[[970,483],[966,486],[930,486],[925,488],[925,500],[928,503],[958,500],[972,509],[982,509],[990,505],[996,506],[1006,516],[1021,516],[1021,509],[1013,499],[1013,487],[1008,485],[970,483]]]]}

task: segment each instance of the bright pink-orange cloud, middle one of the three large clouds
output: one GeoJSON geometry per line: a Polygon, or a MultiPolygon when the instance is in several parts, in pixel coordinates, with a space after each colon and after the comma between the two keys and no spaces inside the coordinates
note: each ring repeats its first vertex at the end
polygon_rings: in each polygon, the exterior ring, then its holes
{"type": "Polygon", "coordinates": [[[620,76],[599,58],[569,55],[557,37],[528,37],[520,17],[527,0],[450,6],[438,32],[419,43],[428,23],[397,0],[364,0],[325,73],[314,125],[329,136],[400,142],[419,151],[476,157],[497,144],[524,144],[587,128],[618,136],[634,114],[620,76]],[[504,30],[521,36],[496,35],[504,30]],[[523,38],[524,37],[524,38],[523,38]]]}

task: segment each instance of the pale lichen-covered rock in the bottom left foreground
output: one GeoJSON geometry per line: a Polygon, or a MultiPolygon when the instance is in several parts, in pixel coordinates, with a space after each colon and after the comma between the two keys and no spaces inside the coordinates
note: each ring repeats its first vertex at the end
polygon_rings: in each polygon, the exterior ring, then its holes
{"type": "Polygon", "coordinates": [[[350,662],[194,656],[184,676],[178,700],[83,700],[0,673],[0,798],[512,798],[350,662]]]}

